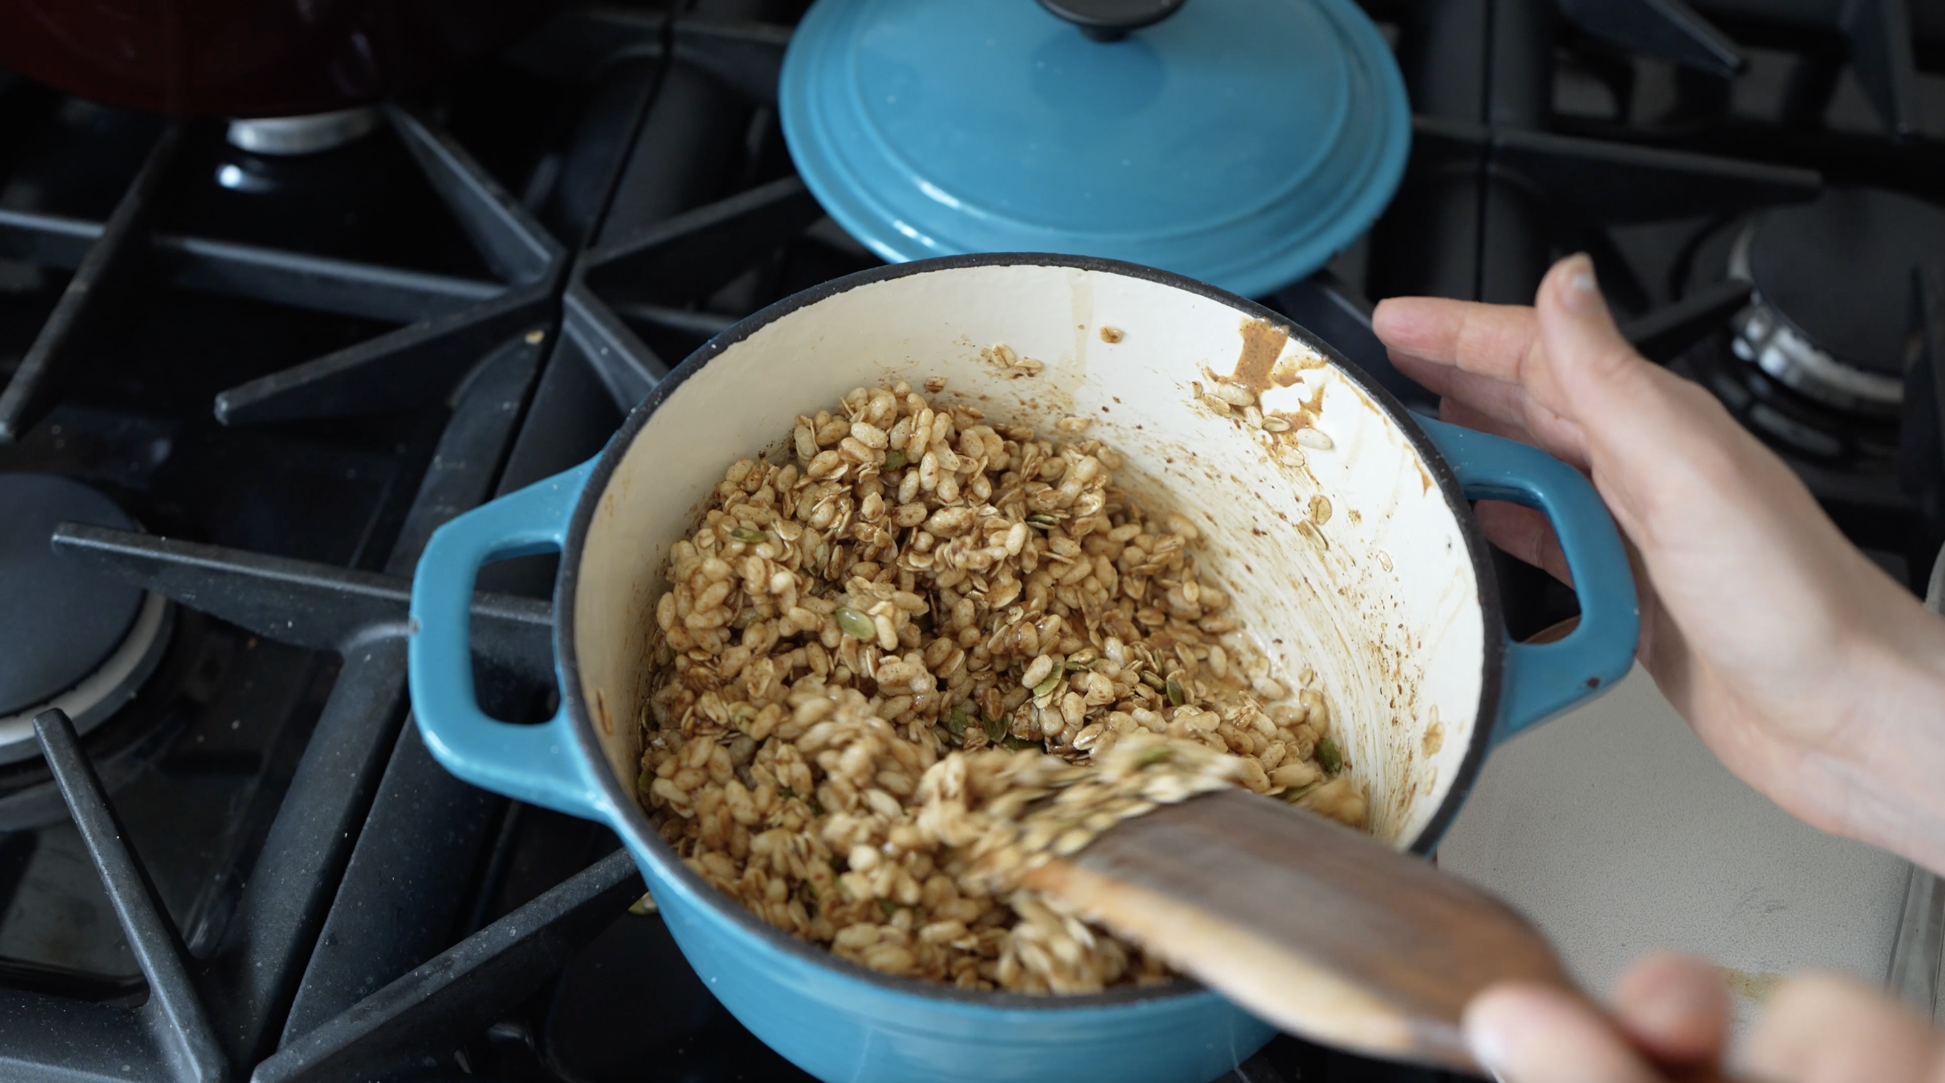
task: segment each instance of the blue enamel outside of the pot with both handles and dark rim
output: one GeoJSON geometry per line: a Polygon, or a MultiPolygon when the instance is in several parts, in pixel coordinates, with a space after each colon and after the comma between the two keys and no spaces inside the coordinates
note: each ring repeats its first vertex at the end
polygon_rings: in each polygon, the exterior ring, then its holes
{"type": "MultiPolygon", "coordinates": [[[[1044,257],[978,259],[1006,262],[1044,257]]],[[[934,266],[959,262],[971,261],[934,266]]],[[[1074,262],[1157,276],[1126,264],[1074,262]]],[[[924,268],[873,270],[848,282],[916,270],[924,268]]],[[[1192,282],[1181,286],[1206,290],[1192,282]]],[[[838,288],[846,288],[846,282],[821,290],[838,288]]],[[[1229,301],[1245,311],[1253,309],[1249,301],[1229,301]]],[[[747,325],[739,325],[741,334],[774,319],[778,311],[788,311],[788,305],[751,317],[747,325]]],[[[724,340],[737,332],[731,329],[724,340]]],[[[1328,350],[1307,332],[1299,334],[1328,350]]],[[[712,356],[712,348],[704,346],[671,373],[601,457],[459,515],[434,533],[412,583],[410,640],[412,714],[432,754],[475,786],[613,826],[642,867],[671,935],[710,992],[762,1042],[819,1079],[1204,1083],[1255,1054],[1274,1031],[1223,997],[1192,986],[1114,990],[1091,997],[969,994],[836,961],[727,904],[655,836],[648,817],[632,801],[632,786],[607,778],[593,723],[580,702],[572,630],[566,626],[554,630],[564,704],[560,714],[543,725],[508,725],[478,710],[469,661],[471,595],[478,568],[488,560],[574,546],[572,523],[591,515],[591,506],[601,496],[599,484],[607,478],[605,467],[619,461],[628,439],[669,389],[712,356]]],[[[1334,354],[1332,360],[1371,387],[1334,354]]],[[[1381,391],[1373,395],[1402,424],[1404,410],[1381,391]]],[[[1414,852],[1424,854],[1463,801],[1488,741],[1503,739],[1585,698],[1591,694],[1587,677],[1597,677],[1605,686],[1626,673],[1638,616],[1626,554],[1585,478],[1531,447],[1437,422],[1420,424],[1468,494],[1546,509],[1581,585],[1585,611],[1583,626],[1560,644],[1505,647],[1503,694],[1498,700],[1505,706],[1492,731],[1474,737],[1467,766],[1447,797],[1451,809],[1441,809],[1412,844],[1414,852]]],[[[1420,447],[1428,457],[1433,455],[1430,447],[1420,447]]],[[[1445,465],[1430,465],[1433,474],[1447,476],[1445,465]]],[[[1455,513],[1463,513],[1451,488],[1447,500],[1455,504],[1455,513]]],[[[1474,568],[1490,576],[1488,566],[1474,562],[1474,568]]],[[[562,552],[560,576],[556,612],[564,612],[572,597],[576,552],[562,552]]],[[[1480,587],[1486,620],[1496,622],[1496,589],[1490,581],[1480,587]]],[[[1494,673],[1500,665],[1500,653],[1488,649],[1486,702],[1492,702],[1492,688],[1500,684],[1494,673]]]]}

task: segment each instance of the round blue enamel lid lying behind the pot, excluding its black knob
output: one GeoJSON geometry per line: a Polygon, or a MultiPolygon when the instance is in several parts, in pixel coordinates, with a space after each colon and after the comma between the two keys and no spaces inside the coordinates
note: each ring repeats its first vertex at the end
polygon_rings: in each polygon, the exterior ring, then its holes
{"type": "Polygon", "coordinates": [[[805,185],[887,261],[1093,255],[1243,296],[1356,241],[1410,142],[1352,0],[1186,0],[1113,43],[1035,0],[817,0],[780,99],[805,185]]]}

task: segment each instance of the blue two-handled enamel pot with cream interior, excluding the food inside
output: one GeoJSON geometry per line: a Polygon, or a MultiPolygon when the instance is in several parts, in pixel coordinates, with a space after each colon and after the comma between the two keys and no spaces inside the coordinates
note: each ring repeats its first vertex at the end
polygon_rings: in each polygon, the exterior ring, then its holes
{"type": "Polygon", "coordinates": [[[704,885],[638,805],[669,544],[729,463],[788,453],[796,414],[928,377],[945,379],[941,399],[1041,432],[1093,418],[1085,436],[1124,455],[1122,484],[1165,492],[1202,527],[1198,560],[1249,632],[1286,673],[1315,671],[1391,846],[1430,854],[1494,745],[1628,673],[1634,581],[1593,486],[1533,447],[1406,414],[1260,305],[1124,262],[980,255],[854,274],[745,319],[671,371],[599,457],[432,537],[412,583],[412,714],[453,774],[613,826],[710,992],[821,1079],[1202,1083],[1272,1034],[1186,980],[1035,997],[854,966],[704,885]],[[1044,367],[1008,379],[994,344],[1044,367]],[[1231,367],[1274,373],[1262,406],[1297,428],[1268,434],[1204,406],[1192,383],[1231,367]],[[1468,498],[1548,515],[1579,591],[1577,630],[1507,642],[1468,498]],[[535,552],[560,552],[560,710],[508,725],[473,696],[469,607],[482,564],[535,552]]]}

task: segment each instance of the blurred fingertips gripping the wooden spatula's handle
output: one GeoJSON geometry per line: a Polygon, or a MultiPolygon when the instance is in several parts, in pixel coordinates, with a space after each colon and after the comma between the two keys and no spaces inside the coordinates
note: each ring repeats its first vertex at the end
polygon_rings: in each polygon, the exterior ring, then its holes
{"type": "MultiPolygon", "coordinates": [[[[1564,990],[1494,986],[1465,1015],[1472,1056],[1502,1083],[1657,1083],[1719,1064],[1729,994],[1714,968],[1661,955],[1616,984],[1610,1017],[1564,990]]],[[[1850,978],[1784,984],[1737,1058],[1762,1083],[1945,1083],[1945,1036],[1850,978]]]]}

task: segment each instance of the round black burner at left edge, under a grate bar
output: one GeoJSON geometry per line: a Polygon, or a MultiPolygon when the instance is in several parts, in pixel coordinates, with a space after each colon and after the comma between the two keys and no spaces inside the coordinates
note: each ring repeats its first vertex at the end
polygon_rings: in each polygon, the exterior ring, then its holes
{"type": "Polygon", "coordinates": [[[62,708],[76,729],[105,719],[167,646],[161,595],[123,585],[49,546],[64,521],[134,529],[109,498],[54,474],[0,474],[0,764],[39,754],[33,716],[62,708]]]}

